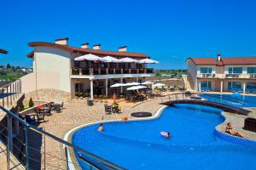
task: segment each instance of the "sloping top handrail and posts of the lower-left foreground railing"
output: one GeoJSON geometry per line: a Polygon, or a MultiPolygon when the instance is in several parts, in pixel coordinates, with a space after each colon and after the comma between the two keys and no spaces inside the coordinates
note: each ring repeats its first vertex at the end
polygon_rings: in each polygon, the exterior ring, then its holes
{"type": "MultiPolygon", "coordinates": [[[[13,113],[13,112],[7,110],[6,108],[4,108],[4,107],[1,106],[1,105],[0,105],[0,110],[4,111],[4,112],[7,114],[7,116],[8,116],[8,127],[9,127],[9,126],[12,126],[11,123],[9,124],[9,122],[12,122],[12,118],[14,118],[16,121],[18,121],[18,122],[20,122],[22,125],[24,125],[26,129],[27,129],[27,128],[30,128],[30,129],[32,129],[33,131],[37,132],[37,133],[43,134],[43,135],[49,137],[50,139],[54,139],[55,141],[57,141],[57,142],[59,142],[59,143],[61,143],[61,144],[64,144],[64,145],[65,145],[65,148],[67,148],[67,146],[69,146],[69,147],[71,147],[73,150],[79,150],[79,151],[80,151],[81,153],[83,153],[84,155],[90,156],[90,157],[93,159],[93,161],[86,161],[87,163],[90,162],[90,167],[96,167],[96,168],[104,169],[104,170],[105,170],[105,169],[106,169],[106,170],[108,170],[108,169],[109,169],[109,170],[110,170],[110,169],[111,169],[111,170],[125,170],[125,167],[120,167],[120,166],[114,164],[113,162],[107,161],[107,160],[103,159],[103,158],[100,157],[100,156],[96,156],[96,155],[90,153],[89,151],[83,150],[83,149],[79,148],[78,146],[75,146],[75,145],[73,145],[73,144],[67,142],[66,140],[60,139],[60,138],[56,137],[55,135],[53,135],[53,134],[51,134],[51,133],[48,133],[48,132],[46,132],[46,131],[44,131],[44,130],[38,128],[38,127],[32,126],[31,124],[29,124],[29,123],[25,122],[24,120],[22,120],[19,116],[16,116],[15,113],[13,113]],[[9,119],[9,118],[10,118],[10,119],[9,119]],[[9,121],[9,120],[10,120],[10,121],[9,121]],[[96,161],[96,162],[94,162],[94,161],[96,161]]],[[[11,128],[9,128],[9,129],[11,129],[11,128]]],[[[11,136],[11,134],[9,134],[9,133],[11,133],[11,132],[9,132],[9,130],[8,130],[8,136],[9,136],[9,135],[11,136]]],[[[9,140],[8,140],[8,146],[10,146],[9,140]]],[[[8,148],[9,148],[9,147],[8,147],[8,148]]],[[[8,150],[8,152],[9,152],[9,150],[8,150]]],[[[66,154],[67,154],[67,152],[66,152],[66,154]]],[[[7,156],[9,156],[9,153],[7,154],[7,156]]],[[[84,158],[84,159],[85,159],[85,158],[84,158]]],[[[8,158],[8,160],[9,160],[9,158],[8,158]]],[[[86,160],[86,159],[85,159],[85,160],[86,160]]],[[[82,160],[82,161],[84,161],[84,160],[82,160]]],[[[29,168],[27,168],[27,169],[29,169],[29,168]]],[[[69,168],[68,168],[68,160],[67,160],[67,169],[69,169],[69,168]]]]}

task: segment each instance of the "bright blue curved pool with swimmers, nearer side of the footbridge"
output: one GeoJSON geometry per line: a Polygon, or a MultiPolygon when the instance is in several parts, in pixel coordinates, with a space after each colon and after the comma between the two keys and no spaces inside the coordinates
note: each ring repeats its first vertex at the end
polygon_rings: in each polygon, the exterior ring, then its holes
{"type": "Polygon", "coordinates": [[[256,149],[214,134],[224,122],[220,113],[202,105],[174,105],[154,120],[104,123],[103,133],[98,125],[81,128],[73,144],[128,169],[255,169],[256,149]],[[161,131],[171,132],[171,139],[161,131]]]}

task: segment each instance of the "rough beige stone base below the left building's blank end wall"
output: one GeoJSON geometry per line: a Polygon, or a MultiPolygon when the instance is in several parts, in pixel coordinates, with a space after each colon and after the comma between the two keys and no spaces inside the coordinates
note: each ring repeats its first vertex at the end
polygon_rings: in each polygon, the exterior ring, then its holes
{"type": "Polygon", "coordinates": [[[32,98],[33,101],[54,101],[56,103],[61,103],[69,102],[71,100],[71,94],[61,90],[45,88],[38,89],[38,92],[32,91],[26,94],[25,100],[29,100],[30,98],[32,98]]]}

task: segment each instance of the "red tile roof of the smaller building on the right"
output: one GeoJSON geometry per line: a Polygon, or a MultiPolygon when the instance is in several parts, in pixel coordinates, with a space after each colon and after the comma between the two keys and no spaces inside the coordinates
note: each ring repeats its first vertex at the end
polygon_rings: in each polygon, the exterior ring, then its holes
{"type": "Polygon", "coordinates": [[[188,58],[195,65],[256,65],[256,57],[227,57],[217,61],[213,58],[188,58]]]}

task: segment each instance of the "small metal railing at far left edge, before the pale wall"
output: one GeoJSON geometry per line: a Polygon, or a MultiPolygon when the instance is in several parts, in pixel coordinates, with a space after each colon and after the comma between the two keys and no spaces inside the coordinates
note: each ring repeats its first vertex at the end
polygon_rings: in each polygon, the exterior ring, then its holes
{"type": "Polygon", "coordinates": [[[0,105],[11,106],[13,105],[13,101],[18,99],[21,94],[21,80],[18,79],[15,82],[10,82],[9,84],[0,87],[0,105]]]}

